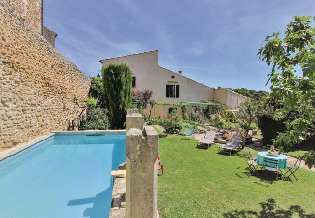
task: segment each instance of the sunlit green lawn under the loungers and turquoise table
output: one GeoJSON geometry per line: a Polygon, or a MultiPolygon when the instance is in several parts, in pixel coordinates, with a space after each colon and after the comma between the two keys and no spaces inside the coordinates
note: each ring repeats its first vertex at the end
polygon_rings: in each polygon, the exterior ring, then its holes
{"type": "Polygon", "coordinates": [[[196,143],[183,136],[159,139],[161,218],[315,217],[314,172],[299,169],[299,181],[262,180],[244,173],[242,152],[219,155],[218,145],[204,150],[196,143]]]}

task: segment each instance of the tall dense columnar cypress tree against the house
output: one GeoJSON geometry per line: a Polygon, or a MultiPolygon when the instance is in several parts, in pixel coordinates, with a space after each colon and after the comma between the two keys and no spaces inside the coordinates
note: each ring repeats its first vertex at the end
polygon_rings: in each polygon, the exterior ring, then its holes
{"type": "Polygon", "coordinates": [[[132,72],[125,63],[110,63],[102,67],[102,79],[110,128],[123,129],[132,99],[132,72]]]}

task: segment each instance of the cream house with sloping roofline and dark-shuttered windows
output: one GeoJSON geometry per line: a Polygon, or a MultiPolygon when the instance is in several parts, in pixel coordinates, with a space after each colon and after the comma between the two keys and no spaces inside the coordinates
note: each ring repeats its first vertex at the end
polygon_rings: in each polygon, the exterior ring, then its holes
{"type": "MultiPolygon", "coordinates": [[[[203,83],[159,66],[158,50],[122,57],[100,60],[103,66],[109,63],[126,63],[133,76],[132,87],[152,89],[152,99],[167,103],[200,102],[211,100],[225,105],[228,109],[237,110],[238,104],[246,97],[229,89],[214,89],[203,83]]],[[[154,115],[164,116],[172,106],[159,107],[153,110],[154,115]]]]}

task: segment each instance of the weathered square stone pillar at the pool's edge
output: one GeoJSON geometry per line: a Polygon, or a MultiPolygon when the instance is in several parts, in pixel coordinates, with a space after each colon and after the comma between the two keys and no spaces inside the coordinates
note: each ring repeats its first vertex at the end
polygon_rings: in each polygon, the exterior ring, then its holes
{"type": "Polygon", "coordinates": [[[126,218],[158,218],[158,134],[137,109],[126,116],[126,218]]]}

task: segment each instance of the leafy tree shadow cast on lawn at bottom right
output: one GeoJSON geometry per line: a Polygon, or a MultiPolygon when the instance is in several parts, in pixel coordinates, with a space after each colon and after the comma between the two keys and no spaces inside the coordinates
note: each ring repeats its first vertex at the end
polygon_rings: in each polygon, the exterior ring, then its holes
{"type": "Polygon", "coordinates": [[[253,210],[233,210],[231,212],[223,213],[225,218],[315,218],[315,214],[306,214],[305,211],[299,205],[291,205],[289,209],[284,210],[276,205],[276,201],[272,198],[267,199],[264,202],[259,203],[261,211],[253,210]]]}

